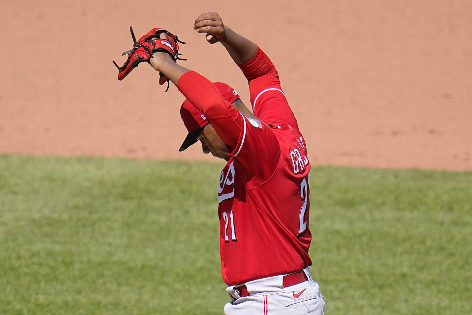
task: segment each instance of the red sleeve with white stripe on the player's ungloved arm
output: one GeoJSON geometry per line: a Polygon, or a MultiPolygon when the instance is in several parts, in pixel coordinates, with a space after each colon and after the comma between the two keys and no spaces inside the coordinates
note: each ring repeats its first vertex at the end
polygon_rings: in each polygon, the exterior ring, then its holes
{"type": "Polygon", "coordinates": [[[288,124],[298,129],[298,123],[282,91],[274,64],[257,47],[257,53],[247,63],[238,64],[249,82],[252,111],[268,125],[288,124]]]}

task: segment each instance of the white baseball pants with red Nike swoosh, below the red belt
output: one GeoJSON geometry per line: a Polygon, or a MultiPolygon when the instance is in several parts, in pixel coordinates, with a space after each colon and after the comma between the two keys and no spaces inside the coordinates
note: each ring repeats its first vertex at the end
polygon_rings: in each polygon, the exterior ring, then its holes
{"type": "Polygon", "coordinates": [[[283,275],[245,283],[249,296],[239,297],[235,286],[226,291],[233,300],[224,306],[225,315],[324,315],[323,295],[310,273],[303,270],[308,281],[283,287],[283,275]]]}

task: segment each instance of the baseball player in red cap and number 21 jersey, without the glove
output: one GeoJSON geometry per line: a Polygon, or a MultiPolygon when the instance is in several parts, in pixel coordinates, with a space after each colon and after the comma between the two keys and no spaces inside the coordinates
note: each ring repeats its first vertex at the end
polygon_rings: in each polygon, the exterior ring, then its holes
{"type": "Polygon", "coordinates": [[[231,297],[224,314],[324,314],[308,268],[310,162],[277,70],[218,13],[202,13],[194,29],[220,42],[240,67],[254,113],[234,89],[175,63],[172,54],[147,60],[186,97],[180,112],[189,133],[180,151],[200,141],[203,153],[227,161],[218,188],[221,275],[231,297]]]}

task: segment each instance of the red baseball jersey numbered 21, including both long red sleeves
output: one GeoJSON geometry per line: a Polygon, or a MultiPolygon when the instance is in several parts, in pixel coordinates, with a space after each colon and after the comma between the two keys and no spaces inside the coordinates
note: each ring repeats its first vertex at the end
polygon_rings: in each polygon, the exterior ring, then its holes
{"type": "Polygon", "coordinates": [[[298,271],[312,263],[305,141],[277,71],[262,50],[239,66],[249,81],[254,114],[269,127],[239,113],[193,71],[178,82],[232,156],[221,171],[218,191],[221,274],[228,285],[298,271]]]}

